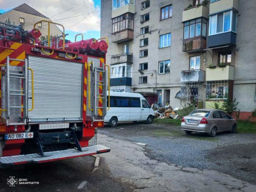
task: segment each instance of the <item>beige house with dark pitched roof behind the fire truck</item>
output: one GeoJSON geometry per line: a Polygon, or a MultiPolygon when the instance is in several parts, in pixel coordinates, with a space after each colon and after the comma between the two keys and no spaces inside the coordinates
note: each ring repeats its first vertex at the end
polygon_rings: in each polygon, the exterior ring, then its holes
{"type": "MultiPolygon", "coordinates": [[[[40,20],[50,20],[28,4],[23,3],[9,11],[0,14],[0,22],[10,22],[14,25],[22,25],[25,30],[33,29],[34,23],[40,20]]],[[[38,23],[36,26],[43,36],[48,35],[48,24],[38,23]],[[44,26],[46,25],[46,26],[44,26]]],[[[50,24],[50,34],[53,36],[62,35],[62,31],[54,24],[50,24]]]]}

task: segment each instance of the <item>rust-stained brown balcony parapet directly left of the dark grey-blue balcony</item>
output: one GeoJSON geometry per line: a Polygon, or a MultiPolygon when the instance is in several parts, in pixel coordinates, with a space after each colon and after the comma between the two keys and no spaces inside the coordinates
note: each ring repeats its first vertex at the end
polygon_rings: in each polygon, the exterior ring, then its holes
{"type": "Polygon", "coordinates": [[[206,38],[201,36],[183,39],[182,51],[187,53],[202,51],[206,49],[206,38]]]}

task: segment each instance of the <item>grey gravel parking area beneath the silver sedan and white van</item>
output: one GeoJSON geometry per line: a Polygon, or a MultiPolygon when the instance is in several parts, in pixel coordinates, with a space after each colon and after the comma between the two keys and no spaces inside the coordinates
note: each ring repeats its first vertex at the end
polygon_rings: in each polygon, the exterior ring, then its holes
{"type": "Polygon", "coordinates": [[[256,184],[256,134],[204,133],[186,135],[173,125],[120,123],[99,133],[131,142],[147,143],[148,157],[169,164],[214,169],[256,184]]]}

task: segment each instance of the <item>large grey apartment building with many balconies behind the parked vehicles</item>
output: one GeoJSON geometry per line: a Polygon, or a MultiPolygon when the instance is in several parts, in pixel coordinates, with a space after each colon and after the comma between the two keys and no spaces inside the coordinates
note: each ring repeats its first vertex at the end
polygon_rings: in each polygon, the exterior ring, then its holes
{"type": "Polygon", "coordinates": [[[255,1],[102,0],[110,89],[150,105],[236,98],[240,118],[256,108],[255,1]]]}

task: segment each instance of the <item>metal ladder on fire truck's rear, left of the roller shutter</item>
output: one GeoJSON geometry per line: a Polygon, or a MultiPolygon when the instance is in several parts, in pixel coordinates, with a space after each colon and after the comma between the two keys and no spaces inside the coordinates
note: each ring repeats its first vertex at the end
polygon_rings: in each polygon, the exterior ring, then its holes
{"type": "Polygon", "coordinates": [[[5,106],[6,109],[1,109],[1,111],[5,111],[5,124],[8,125],[26,125],[26,117],[27,112],[33,110],[33,100],[32,100],[32,108],[27,109],[28,106],[28,69],[31,70],[31,78],[32,78],[32,97],[30,99],[33,99],[33,70],[28,68],[27,65],[27,59],[25,60],[19,60],[19,59],[11,59],[9,56],[7,57],[6,65],[1,65],[2,67],[5,67],[5,106]],[[10,66],[10,61],[18,61],[18,62],[24,62],[24,65],[22,67],[18,66],[10,66]],[[10,67],[12,70],[10,70],[10,67]],[[22,70],[15,69],[22,68],[22,70]],[[18,80],[17,80],[18,79],[18,80]],[[19,81],[21,80],[21,82],[19,81]],[[17,87],[21,87],[22,90],[15,90],[17,87]],[[11,89],[15,87],[14,89],[11,89]],[[21,99],[21,98],[22,99],[21,99]],[[23,105],[19,106],[13,106],[12,103],[21,103],[23,101],[23,105]],[[12,109],[22,108],[23,109],[23,117],[20,114],[15,113],[12,109]],[[15,120],[16,119],[16,120],[15,120]]]}

